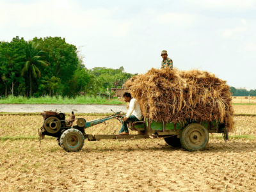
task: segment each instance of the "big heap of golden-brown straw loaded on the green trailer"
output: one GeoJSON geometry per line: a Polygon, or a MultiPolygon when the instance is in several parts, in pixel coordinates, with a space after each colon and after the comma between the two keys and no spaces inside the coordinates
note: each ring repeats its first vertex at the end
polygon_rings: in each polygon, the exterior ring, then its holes
{"type": "Polygon", "coordinates": [[[233,129],[232,97],[226,81],[200,70],[152,68],[133,76],[125,87],[138,100],[143,115],[156,122],[220,121],[233,129]]]}

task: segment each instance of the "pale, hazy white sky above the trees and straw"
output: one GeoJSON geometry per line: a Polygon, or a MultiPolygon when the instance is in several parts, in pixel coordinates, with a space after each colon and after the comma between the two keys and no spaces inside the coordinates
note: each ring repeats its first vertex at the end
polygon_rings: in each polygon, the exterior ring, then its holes
{"type": "Polygon", "coordinates": [[[256,89],[256,0],[0,0],[0,41],[61,36],[86,68],[205,70],[256,89]]]}

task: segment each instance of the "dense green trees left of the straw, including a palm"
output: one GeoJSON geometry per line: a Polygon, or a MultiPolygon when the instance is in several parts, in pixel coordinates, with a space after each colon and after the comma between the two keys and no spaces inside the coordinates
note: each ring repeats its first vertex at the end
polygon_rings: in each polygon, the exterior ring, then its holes
{"type": "Polygon", "coordinates": [[[109,88],[120,88],[137,74],[118,69],[88,69],[77,47],[65,38],[16,36],[11,42],[0,42],[0,96],[40,97],[44,95],[107,96],[109,88]]]}

